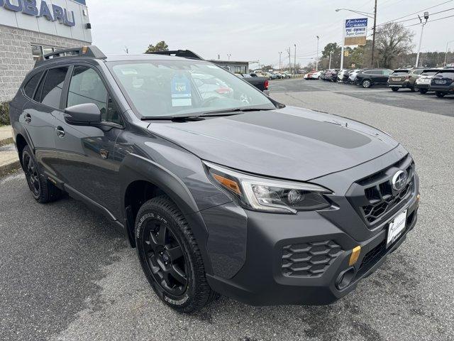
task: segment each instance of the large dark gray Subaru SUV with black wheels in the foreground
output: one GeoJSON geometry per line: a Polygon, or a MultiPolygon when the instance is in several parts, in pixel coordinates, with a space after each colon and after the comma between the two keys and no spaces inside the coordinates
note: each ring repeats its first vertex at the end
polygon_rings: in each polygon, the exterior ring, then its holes
{"type": "Polygon", "coordinates": [[[416,224],[419,178],[392,137],[285,107],[187,50],[46,55],[10,115],[35,200],[104,214],[182,312],[217,293],[332,303],[416,224]]]}

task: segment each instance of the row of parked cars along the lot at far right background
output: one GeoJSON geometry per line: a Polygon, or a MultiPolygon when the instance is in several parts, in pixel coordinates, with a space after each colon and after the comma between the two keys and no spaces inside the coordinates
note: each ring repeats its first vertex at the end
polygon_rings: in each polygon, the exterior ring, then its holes
{"type": "Polygon", "coordinates": [[[308,72],[306,80],[326,80],[369,88],[387,85],[392,91],[407,88],[411,92],[435,92],[438,97],[454,94],[454,67],[389,69],[331,69],[308,72]]]}

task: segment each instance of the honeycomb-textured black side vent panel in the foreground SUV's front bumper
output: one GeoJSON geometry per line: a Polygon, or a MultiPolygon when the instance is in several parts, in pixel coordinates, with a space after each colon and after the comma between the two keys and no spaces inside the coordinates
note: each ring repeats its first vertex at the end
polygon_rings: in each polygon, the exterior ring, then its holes
{"type": "Polygon", "coordinates": [[[341,247],[332,240],[286,245],[282,248],[282,274],[321,276],[341,253],[341,247]]]}

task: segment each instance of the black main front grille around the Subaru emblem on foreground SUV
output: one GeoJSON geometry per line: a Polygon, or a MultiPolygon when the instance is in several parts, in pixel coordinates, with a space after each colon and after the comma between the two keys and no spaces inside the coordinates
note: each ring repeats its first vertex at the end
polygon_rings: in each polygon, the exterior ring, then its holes
{"type": "Polygon", "coordinates": [[[394,165],[358,180],[348,191],[348,200],[370,227],[392,215],[415,195],[414,162],[406,156],[394,165]],[[394,190],[392,178],[397,171],[408,175],[405,187],[394,190]]]}

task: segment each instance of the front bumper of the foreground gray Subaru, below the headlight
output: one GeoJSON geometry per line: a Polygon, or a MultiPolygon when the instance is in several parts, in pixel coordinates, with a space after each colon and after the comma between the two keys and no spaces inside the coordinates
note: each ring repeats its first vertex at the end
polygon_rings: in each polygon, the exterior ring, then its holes
{"type": "MultiPolygon", "coordinates": [[[[301,212],[305,217],[292,215],[287,216],[287,219],[283,219],[282,215],[247,212],[248,247],[244,266],[233,278],[207,274],[209,285],[224,296],[251,305],[333,303],[353,291],[362,278],[377,270],[386,256],[404,242],[406,234],[416,224],[418,206],[419,200],[416,197],[406,205],[406,228],[388,249],[384,245],[386,227],[374,237],[357,242],[316,212],[301,212]],[[299,248],[299,251],[303,250],[305,255],[308,254],[308,249],[309,254],[314,254],[309,255],[311,259],[306,262],[306,266],[296,268],[306,276],[288,276],[287,270],[282,267],[282,259],[288,255],[289,245],[299,248]],[[350,268],[352,249],[358,245],[361,253],[350,270],[353,277],[348,285],[339,288],[336,281],[341,273],[350,268]],[[314,274],[307,275],[310,271],[304,269],[311,266],[311,263],[320,262],[327,264],[325,269],[314,270],[314,274]]],[[[296,253],[295,257],[295,260],[301,261],[301,253],[296,253]]]]}

